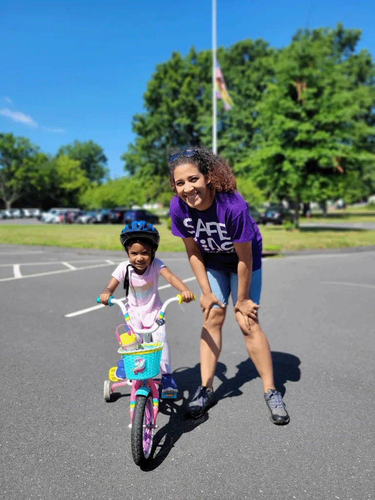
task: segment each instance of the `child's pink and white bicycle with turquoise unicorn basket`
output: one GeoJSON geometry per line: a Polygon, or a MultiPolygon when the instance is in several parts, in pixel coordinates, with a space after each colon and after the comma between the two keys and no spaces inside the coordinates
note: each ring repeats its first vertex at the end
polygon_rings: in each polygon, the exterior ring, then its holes
{"type": "MultiPolygon", "coordinates": [[[[195,298],[195,297],[194,297],[195,298]]],[[[96,298],[100,302],[100,298],[96,298]]],[[[110,396],[116,387],[125,384],[131,384],[130,391],[130,424],[131,427],[131,452],[136,465],[144,465],[151,458],[152,440],[154,429],[156,428],[156,417],[159,409],[159,379],[154,379],[159,373],[159,365],[161,359],[161,349],[163,342],[152,342],[151,333],[163,324],[164,311],[171,302],[182,302],[181,295],[171,297],[164,302],[155,324],[148,329],[138,330],[131,324],[129,314],[126,309],[126,303],[121,300],[109,297],[108,304],[117,304],[123,314],[125,323],[130,329],[129,332],[118,333],[116,330],[117,340],[120,343],[118,353],[121,354],[126,376],[128,378],[118,380],[115,376],[116,367],[109,370],[109,380],[104,381],[104,399],[110,400],[110,396]],[[129,349],[126,335],[139,333],[143,335],[143,342],[135,346],[135,349],[129,349]],[[129,378],[131,379],[129,380],[129,378]],[[112,383],[111,383],[112,382],[112,383]]],[[[125,326],[125,325],[120,325],[125,326]]],[[[135,335],[134,335],[135,337],[135,335]]],[[[162,392],[161,399],[175,398],[175,392],[162,392]]]]}

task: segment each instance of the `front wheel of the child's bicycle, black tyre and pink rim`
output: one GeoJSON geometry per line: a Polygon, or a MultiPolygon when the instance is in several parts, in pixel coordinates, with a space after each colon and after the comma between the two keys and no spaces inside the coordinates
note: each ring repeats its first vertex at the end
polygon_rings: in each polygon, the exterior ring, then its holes
{"type": "Polygon", "coordinates": [[[131,424],[131,452],[136,465],[144,465],[151,458],[153,427],[152,395],[138,395],[131,424]]]}

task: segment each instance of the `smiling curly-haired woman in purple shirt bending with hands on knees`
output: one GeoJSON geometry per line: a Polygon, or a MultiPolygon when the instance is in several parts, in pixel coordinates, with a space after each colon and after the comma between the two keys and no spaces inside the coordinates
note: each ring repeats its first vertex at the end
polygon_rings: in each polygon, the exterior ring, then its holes
{"type": "Polygon", "coordinates": [[[188,404],[186,416],[198,418],[215,403],[212,381],[221,350],[221,327],[231,293],[235,317],[247,352],[263,382],[273,423],[289,421],[281,394],[275,390],[267,338],[257,312],[261,288],[261,235],[247,203],[235,191],[229,165],[209,150],[187,149],[169,158],[172,233],[185,244],[201,288],[204,323],[200,339],[202,385],[188,404]]]}

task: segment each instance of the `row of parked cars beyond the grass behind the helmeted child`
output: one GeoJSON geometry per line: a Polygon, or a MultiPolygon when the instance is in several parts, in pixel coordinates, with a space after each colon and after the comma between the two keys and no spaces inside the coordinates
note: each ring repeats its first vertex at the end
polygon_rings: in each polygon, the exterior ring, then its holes
{"type": "Polygon", "coordinates": [[[142,208],[101,208],[98,210],[80,210],[79,208],[50,208],[37,217],[47,224],[129,224],[133,220],[145,220],[159,224],[159,217],[142,208]]]}

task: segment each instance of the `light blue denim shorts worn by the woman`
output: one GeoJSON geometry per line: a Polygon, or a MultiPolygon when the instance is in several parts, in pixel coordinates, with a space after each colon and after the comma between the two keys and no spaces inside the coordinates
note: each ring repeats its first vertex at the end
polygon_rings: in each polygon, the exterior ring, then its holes
{"type": "MultiPolygon", "coordinates": [[[[238,292],[238,275],[236,272],[226,272],[218,271],[216,269],[206,269],[209,285],[211,287],[212,293],[220,300],[224,305],[228,304],[228,298],[231,293],[233,306],[237,302],[237,292],[238,292]]],[[[250,289],[248,291],[248,297],[255,304],[259,304],[260,301],[260,291],[261,291],[261,267],[252,271],[251,273],[251,283],[250,289]]],[[[212,307],[219,307],[217,304],[213,304],[212,307]]]]}

